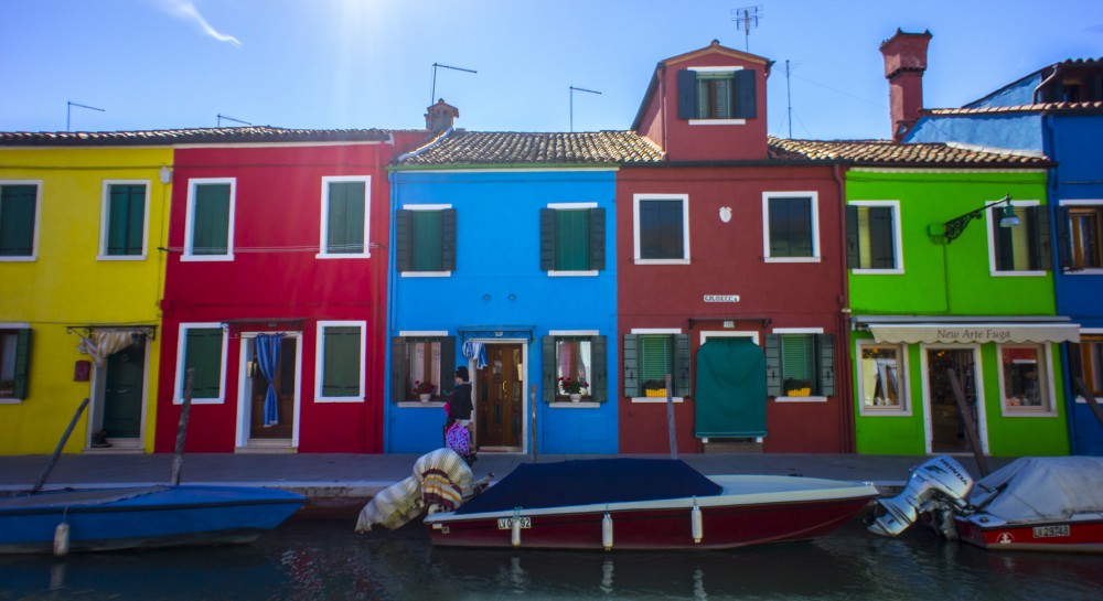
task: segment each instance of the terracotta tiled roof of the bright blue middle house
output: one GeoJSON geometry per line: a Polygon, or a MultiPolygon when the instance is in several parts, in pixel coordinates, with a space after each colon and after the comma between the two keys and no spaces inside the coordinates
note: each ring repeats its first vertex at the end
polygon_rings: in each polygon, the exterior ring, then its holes
{"type": "Polygon", "coordinates": [[[403,167],[611,164],[657,162],[662,151],[631,131],[516,132],[452,130],[401,157],[403,167]]]}

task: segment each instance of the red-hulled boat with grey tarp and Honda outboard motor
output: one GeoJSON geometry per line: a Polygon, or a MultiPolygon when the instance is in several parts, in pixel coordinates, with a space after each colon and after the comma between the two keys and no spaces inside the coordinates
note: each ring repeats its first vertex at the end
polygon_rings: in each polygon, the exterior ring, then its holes
{"type": "Polygon", "coordinates": [[[1021,458],[974,483],[938,457],[877,503],[884,514],[869,529],[885,536],[919,519],[988,550],[1103,552],[1103,458],[1021,458]]]}

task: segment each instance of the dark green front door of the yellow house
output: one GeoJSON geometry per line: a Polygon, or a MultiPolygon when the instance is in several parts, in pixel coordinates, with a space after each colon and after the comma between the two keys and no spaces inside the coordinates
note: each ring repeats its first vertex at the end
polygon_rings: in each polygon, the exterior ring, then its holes
{"type": "Polygon", "coordinates": [[[104,430],[108,438],[141,436],[141,395],[146,378],[146,336],[107,357],[104,430]]]}

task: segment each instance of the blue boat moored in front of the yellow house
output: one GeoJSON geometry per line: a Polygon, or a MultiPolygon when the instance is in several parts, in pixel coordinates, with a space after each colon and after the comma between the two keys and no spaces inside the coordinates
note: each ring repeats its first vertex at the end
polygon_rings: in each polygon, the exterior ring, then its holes
{"type": "Polygon", "coordinates": [[[250,543],[306,503],[274,489],[153,485],[0,498],[0,554],[250,543]]]}

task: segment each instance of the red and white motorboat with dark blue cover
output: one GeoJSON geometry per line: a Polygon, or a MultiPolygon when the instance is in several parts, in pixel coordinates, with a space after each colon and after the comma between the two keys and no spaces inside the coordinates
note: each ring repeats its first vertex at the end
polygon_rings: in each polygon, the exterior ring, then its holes
{"type": "Polygon", "coordinates": [[[876,496],[869,483],[706,476],[679,460],[572,460],[521,464],[425,524],[438,546],[713,550],[823,536],[876,496]]]}

